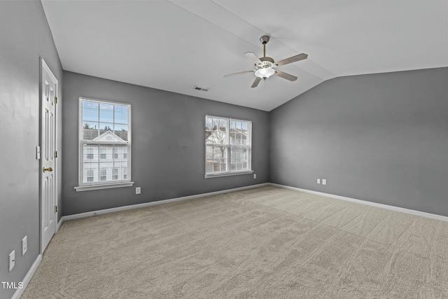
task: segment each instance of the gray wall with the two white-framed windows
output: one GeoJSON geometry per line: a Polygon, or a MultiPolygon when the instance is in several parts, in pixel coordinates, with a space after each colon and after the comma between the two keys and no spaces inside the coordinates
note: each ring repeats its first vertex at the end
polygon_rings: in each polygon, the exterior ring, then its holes
{"type": "Polygon", "coordinates": [[[269,181],[269,113],[64,71],[64,215],[209,193],[269,181]],[[133,187],[76,192],[78,98],[131,104],[133,187]],[[204,179],[206,114],[251,120],[257,174],[204,179]],[[135,187],[141,187],[141,195],[135,187]]]}

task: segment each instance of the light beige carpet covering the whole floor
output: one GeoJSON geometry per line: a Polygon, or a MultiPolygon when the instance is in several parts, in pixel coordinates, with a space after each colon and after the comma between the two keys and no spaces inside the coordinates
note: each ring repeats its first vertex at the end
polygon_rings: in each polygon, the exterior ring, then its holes
{"type": "Polygon", "coordinates": [[[448,298],[448,222],[285,188],[66,221],[22,298],[448,298]]]}

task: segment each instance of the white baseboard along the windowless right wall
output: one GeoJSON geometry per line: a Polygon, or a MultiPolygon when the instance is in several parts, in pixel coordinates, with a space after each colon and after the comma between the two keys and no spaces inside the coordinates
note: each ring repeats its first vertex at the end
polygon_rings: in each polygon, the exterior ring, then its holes
{"type": "Polygon", "coordinates": [[[358,204],[367,204],[369,206],[379,207],[379,208],[383,208],[383,209],[390,209],[392,211],[401,211],[401,212],[407,213],[407,214],[423,216],[426,218],[433,218],[433,219],[442,220],[442,221],[448,221],[447,216],[430,214],[430,213],[426,213],[424,211],[416,211],[413,209],[394,207],[394,206],[390,206],[388,204],[378,204],[377,202],[367,202],[367,200],[356,200],[355,198],[351,198],[351,197],[344,197],[344,196],[334,195],[334,194],[330,194],[330,193],[323,193],[323,192],[318,192],[318,191],[313,191],[313,190],[307,190],[307,189],[296,188],[296,187],[291,187],[291,186],[286,186],[286,185],[280,185],[278,183],[268,183],[268,184],[271,186],[276,186],[276,187],[281,187],[281,188],[286,188],[286,189],[297,190],[297,191],[302,191],[302,192],[306,192],[306,193],[312,193],[312,194],[316,194],[316,195],[331,197],[331,198],[335,198],[337,200],[346,200],[349,202],[356,202],[358,204]]]}

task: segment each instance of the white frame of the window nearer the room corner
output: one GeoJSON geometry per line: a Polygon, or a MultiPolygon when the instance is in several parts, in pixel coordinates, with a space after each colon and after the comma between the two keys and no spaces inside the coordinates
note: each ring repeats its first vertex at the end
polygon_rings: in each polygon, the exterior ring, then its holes
{"type": "Polygon", "coordinates": [[[240,175],[240,174],[252,174],[254,172],[252,169],[252,121],[207,114],[204,118],[204,132],[207,130],[207,118],[221,118],[226,121],[226,129],[225,129],[226,144],[207,144],[207,141],[204,140],[204,149],[205,149],[205,152],[204,152],[204,173],[205,173],[204,178],[210,179],[210,178],[216,178],[216,177],[220,177],[220,176],[235,176],[235,175],[240,175]],[[247,130],[248,137],[246,138],[246,140],[248,141],[248,144],[230,144],[229,130],[230,130],[230,122],[232,120],[245,122],[248,124],[248,130],[247,130]],[[207,173],[207,146],[225,146],[226,147],[226,151],[227,151],[227,153],[226,153],[227,170],[226,171],[208,172],[207,173]],[[248,167],[247,167],[247,169],[232,170],[232,146],[246,148],[246,150],[248,152],[248,158],[247,158],[248,167]]]}

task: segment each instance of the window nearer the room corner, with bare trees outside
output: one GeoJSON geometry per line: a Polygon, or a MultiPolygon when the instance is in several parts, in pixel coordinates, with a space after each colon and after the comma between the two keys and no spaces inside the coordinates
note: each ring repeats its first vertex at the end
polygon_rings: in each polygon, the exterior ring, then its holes
{"type": "Polygon", "coordinates": [[[252,172],[251,129],[248,120],[205,117],[206,178],[252,172]]]}

